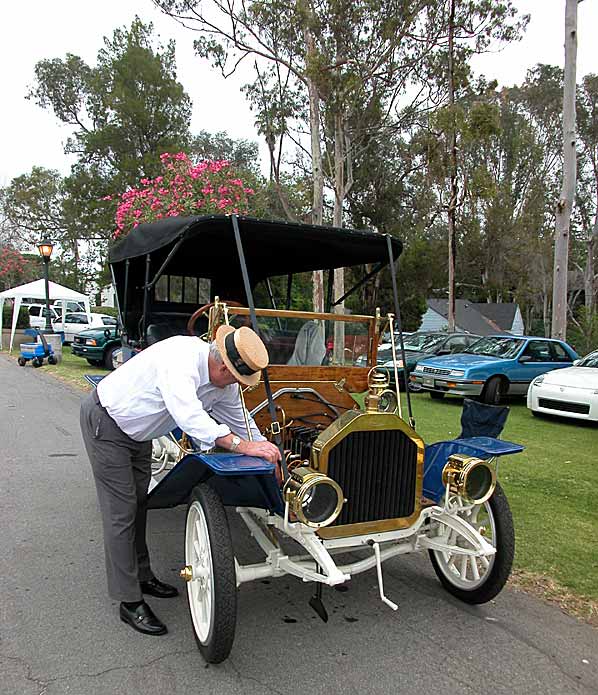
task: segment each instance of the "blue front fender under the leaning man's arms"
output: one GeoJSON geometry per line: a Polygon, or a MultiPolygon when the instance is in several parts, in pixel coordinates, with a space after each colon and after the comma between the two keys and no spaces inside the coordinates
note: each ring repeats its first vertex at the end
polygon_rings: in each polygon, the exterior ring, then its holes
{"type": "Polygon", "coordinates": [[[186,504],[193,488],[207,483],[225,506],[258,507],[282,514],[284,501],[275,466],[243,454],[188,454],[147,496],[148,509],[186,504]]]}

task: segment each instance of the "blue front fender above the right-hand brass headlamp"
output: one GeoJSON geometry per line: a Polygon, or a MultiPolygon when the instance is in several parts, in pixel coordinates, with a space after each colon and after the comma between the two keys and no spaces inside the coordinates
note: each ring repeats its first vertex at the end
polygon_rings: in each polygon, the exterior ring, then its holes
{"type": "Polygon", "coordinates": [[[442,469],[452,454],[489,459],[495,456],[518,454],[523,449],[521,444],[505,442],[493,437],[468,437],[428,444],[424,455],[424,496],[436,503],[440,502],[445,490],[442,484],[442,469]]]}

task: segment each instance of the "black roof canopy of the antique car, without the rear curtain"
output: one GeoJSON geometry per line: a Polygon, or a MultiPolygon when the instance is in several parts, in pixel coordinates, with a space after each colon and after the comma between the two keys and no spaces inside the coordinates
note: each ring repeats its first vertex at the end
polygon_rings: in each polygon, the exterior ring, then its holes
{"type": "MultiPolygon", "coordinates": [[[[238,220],[252,284],[275,275],[388,262],[386,236],[377,232],[252,217],[238,220]]],[[[112,248],[109,262],[119,264],[148,253],[153,258],[156,252],[166,258],[181,237],[184,241],[168,263],[169,273],[215,278],[231,264],[238,269],[227,215],[169,217],[141,224],[112,248]]],[[[397,239],[392,244],[396,259],[402,244],[397,239]]]]}

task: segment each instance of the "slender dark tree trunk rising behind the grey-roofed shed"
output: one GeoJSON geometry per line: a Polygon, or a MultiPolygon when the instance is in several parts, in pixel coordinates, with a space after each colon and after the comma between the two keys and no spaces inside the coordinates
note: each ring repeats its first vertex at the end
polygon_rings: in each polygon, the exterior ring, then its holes
{"type": "MultiPolygon", "coordinates": [[[[455,0],[451,0],[448,33],[448,92],[449,108],[453,113],[455,106],[455,74],[454,74],[454,30],[455,30],[455,0]]],[[[455,259],[457,243],[455,239],[455,213],[457,208],[457,131],[453,123],[449,136],[451,192],[448,205],[448,330],[455,330],[455,259]]]]}

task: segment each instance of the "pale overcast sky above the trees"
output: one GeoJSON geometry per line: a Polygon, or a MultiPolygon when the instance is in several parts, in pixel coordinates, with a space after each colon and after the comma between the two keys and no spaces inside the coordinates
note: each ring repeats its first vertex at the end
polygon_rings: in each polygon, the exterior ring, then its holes
{"type": "MultiPolygon", "coordinates": [[[[474,69],[500,85],[520,83],[536,63],[564,64],[565,0],[515,0],[531,21],[523,40],[498,53],[475,58],[474,69]]],[[[103,37],[130,26],[138,15],[154,23],[161,41],[176,40],[178,78],[193,101],[192,131],[226,131],[233,138],[259,140],[253,116],[240,88],[242,78],[224,80],[193,52],[195,33],[162,15],[151,0],[33,0],[2,3],[0,9],[0,186],[33,166],[67,174],[72,160],[63,153],[69,129],[51,111],[25,99],[39,60],[80,56],[94,65],[103,37]]],[[[598,0],[584,0],[578,10],[577,75],[598,72],[594,44],[598,0]]],[[[262,157],[264,148],[261,148],[262,157]]]]}

